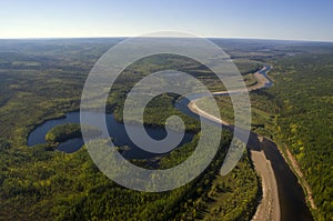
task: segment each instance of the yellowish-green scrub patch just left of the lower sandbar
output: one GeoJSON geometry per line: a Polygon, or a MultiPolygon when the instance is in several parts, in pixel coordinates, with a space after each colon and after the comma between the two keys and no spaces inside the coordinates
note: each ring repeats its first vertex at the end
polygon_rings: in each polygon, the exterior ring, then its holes
{"type": "Polygon", "coordinates": [[[260,195],[260,180],[246,154],[228,175],[211,185],[203,220],[251,220],[260,195]]]}

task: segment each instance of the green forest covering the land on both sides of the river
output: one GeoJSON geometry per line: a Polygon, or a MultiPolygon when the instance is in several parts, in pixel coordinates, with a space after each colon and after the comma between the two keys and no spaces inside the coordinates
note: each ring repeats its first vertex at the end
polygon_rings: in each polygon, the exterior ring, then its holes
{"type": "MultiPolygon", "coordinates": [[[[78,125],[50,131],[52,144],[27,147],[29,133],[48,119],[79,109],[84,80],[95,61],[120,39],[0,40],[0,220],[251,220],[261,197],[260,178],[246,152],[225,177],[219,169],[231,133],[195,180],[162,193],[129,190],[109,180],[83,147],[75,153],[53,151],[53,142],[79,135],[78,125]],[[65,130],[68,131],[65,131],[65,130]],[[51,145],[51,148],[50,148],[51,145]]],[[[333,214],[332,54],[327,43],[213,39],[231,56],[248,86],[264,63],[274,87],[251,94],[252,130],[289,149],[309,182],[315,220],[333,214]],[[324,120],[323,120],[324,119],[324,120]]],[[[107,111],[122,121],[129,89],[150,72],[176,68],[200,79],[210,90],[223,84],[198,63],[163,54],[129,67],[108,98],[107,111]]],[[[145,109],[148,125],[164,125],[179,114],[188,131],[199,123],[176,109],[176,94],[163,94],[145,109]]],[[[222,118],[232,121],[228,98],[218,98],[222,118]]],[[[195,139],[159,160],[170,168],[184,161],[195,139]]],[[[144,161],[132,160],[135,164],[144,161]],[[137,161],[137,162],[135,162],[137,161]]]]}

